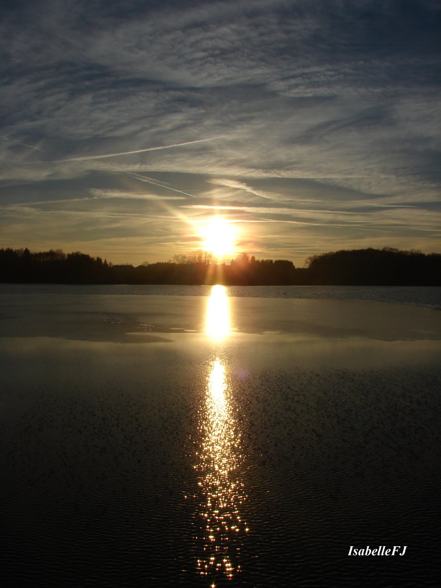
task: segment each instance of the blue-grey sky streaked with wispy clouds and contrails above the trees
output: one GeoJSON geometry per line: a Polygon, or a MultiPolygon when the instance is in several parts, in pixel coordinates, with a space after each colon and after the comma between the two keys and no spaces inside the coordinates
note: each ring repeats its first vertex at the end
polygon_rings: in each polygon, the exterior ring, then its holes
{"type": "Polygon", "coordinates": [[[437,0],[0,8],[0,247],[441,252],[437,0]],[[229,239],[227,239],[229,240],[229,239]]]}

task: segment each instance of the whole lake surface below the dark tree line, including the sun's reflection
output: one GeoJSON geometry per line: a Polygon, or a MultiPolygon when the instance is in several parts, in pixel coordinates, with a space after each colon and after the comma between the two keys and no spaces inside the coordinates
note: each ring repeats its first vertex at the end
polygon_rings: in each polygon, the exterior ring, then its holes
{"type": "Polygon", "coordinates": [[[434,585],[437,292],[2,286],[0,577],[434,585]]]}

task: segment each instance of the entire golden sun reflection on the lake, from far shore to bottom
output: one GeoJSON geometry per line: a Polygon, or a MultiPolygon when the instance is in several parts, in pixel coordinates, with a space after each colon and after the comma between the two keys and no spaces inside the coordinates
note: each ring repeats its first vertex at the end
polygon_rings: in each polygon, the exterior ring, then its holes
{"type": "MultiPolygon", "coordinates": [[[[231,579],[242,571],[239,564],[243,536],[248,532],[240,515],[245,501],[240,474],[243,463],[236,406],[224,363],[216,357],[230,333],[228,296],[224,286],[213,286],[206,308],[206,329],[212,344],[212,361],[205,397],[199,413],[199,441],[195,465],[199,486],[198,515],[202,542],[197,561],[199,574],[211,580],[231,579]]],[[[215,582],[213,581],[213,584],[215,582]]]]}

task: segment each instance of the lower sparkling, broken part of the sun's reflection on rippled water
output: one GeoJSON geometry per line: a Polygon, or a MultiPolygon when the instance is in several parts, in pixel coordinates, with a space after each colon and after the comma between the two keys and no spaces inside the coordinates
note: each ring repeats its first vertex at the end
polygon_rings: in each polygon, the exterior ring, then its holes
{"type": "Polygon", "coordinates": [[[206,387],[204,416],[199,428],[201,445],[196,454],[203,554],[198,559],[202,575],[222,573],[232,578],[240,572],[238,552],[243,533],[248,531],[240,516],[246,499],[238,467],[243,461],[240,433],[219,358],[211,365],[206,387]]]}

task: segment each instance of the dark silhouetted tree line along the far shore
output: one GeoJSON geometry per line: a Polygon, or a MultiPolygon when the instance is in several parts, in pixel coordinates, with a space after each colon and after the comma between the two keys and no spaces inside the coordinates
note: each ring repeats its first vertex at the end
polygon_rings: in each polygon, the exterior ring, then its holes
{"type": "Polygon", "coordinates": [[[256,259],[240,253],[217,263],[202,249],[168,262],[113,265],[99,257],[61,249],[31,253],[0,249],[0,282],[75,284],[179,284],[226,286],[353,285],[440,286],[441,254],[420,251],[353,249],[310,256],[303,268],[286,259],[256,259]]]}

